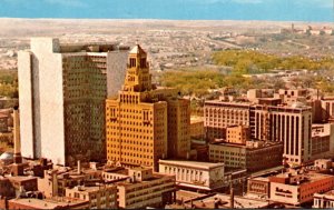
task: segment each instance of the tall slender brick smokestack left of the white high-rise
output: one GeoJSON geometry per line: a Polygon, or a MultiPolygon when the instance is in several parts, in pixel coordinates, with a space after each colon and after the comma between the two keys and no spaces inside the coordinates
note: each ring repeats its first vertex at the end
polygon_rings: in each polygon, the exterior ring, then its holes
{"type": "Polygon", "coordinates": [[[13,140],[14,140],[14,163],[22,163],[21,157],[21,140],[20,140],[20,119],[19,119],[19,108],[13,108],[13,140]]]}

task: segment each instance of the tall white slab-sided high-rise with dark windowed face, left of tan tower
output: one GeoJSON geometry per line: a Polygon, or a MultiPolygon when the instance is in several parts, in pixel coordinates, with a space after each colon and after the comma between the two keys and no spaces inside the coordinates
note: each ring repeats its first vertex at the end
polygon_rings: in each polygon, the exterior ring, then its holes
{"type": "Polygon", "coordinates": [[[117,93],[128,48],[33,38],[19,52],[22,156],[56,164],[106,158],[105,100],[117,93]]]}

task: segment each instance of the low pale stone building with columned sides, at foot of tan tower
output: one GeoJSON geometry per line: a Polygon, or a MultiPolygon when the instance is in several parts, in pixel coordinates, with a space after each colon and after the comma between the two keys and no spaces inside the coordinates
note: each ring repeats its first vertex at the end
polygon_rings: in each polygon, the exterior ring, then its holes
{"type": "Polygon", "coordinates": [[[224,187],[224,163],[159,160],[159,171],[175,174],[176,183],[181,188],[204,191],[220,189],[224,187]]]}

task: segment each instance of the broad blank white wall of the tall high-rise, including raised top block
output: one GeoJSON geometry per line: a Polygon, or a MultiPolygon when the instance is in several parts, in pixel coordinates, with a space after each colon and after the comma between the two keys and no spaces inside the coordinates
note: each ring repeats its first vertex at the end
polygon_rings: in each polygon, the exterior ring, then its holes
{"type": "Polygon", "coordinates": [[[62,56],[57,39],[32,39],[36,158],[65,164],[62,56]]]}

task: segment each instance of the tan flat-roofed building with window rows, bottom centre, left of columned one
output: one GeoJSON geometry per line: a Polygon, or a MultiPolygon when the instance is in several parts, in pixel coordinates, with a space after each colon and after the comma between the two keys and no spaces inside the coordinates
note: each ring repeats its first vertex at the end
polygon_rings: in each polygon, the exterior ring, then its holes
{"type": "Polygon", "coordinates": [[[108,170],[102,177],[117,186],[120,209],[161,208],[175,201],[175,176],[139,167],[108,170]]]}

